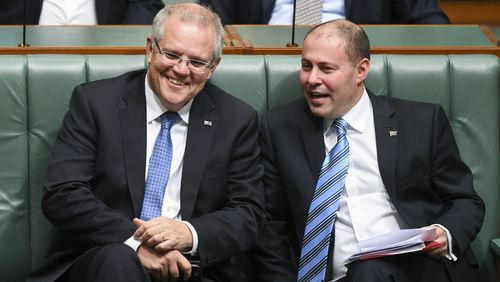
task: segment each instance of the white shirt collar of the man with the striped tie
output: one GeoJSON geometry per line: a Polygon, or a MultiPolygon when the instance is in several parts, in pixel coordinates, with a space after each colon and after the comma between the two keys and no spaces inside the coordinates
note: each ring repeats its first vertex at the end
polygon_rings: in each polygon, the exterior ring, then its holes
{"type": "MultiPolygon", "coordinates": [[[[370,97],[368,97],[368,92],[366,92],[366,88],[363,90],[363,95],[361,99],[350,109],[342,119],[345,120],[348,124],[348,127],[354,129],[359,132],[366,131],[367,127],[370,125],[370,117],[373,115],[373,109],[370,101],[370,97]]],[[[324,119],[323,120],[323,134],[330,134],[330,128],[333,120],[332,119],[324,119]]]]}

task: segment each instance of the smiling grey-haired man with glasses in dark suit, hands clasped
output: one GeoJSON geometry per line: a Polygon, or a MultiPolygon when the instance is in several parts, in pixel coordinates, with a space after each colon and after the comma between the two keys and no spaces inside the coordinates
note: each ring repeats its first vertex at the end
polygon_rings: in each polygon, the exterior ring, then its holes
{"type": "Polygon", "coordinates": [[[188,259],[202,281],[238,281],[231,258],[255,245],[264,219],[263,169],[256,111],[206,85],[222,44],[215,13],[169,6],[147,39],[147,72],[75,88],[44,185],[58,232],[29,281],[188,279],[188,259]],[[168,116],[171,157],[155,162],[168,116]],[[151,199],[158,166],[168,180],[151,199]]]}

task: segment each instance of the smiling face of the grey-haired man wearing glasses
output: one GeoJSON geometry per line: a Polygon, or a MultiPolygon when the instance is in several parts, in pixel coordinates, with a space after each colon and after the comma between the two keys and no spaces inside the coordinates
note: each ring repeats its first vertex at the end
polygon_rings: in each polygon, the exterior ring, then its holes
{"type": "MultiPolygon", "coordinates": [[[[157,41],[164,51],[186,59],[212,62],[215,38],[212,28],[194,22],[183,22],[179,16],[173,15],[165,21],[163,34],[157,41]]],[[[192,72],[185,60],[176,65],[164,63],[163,55],[152,37],[148,37],[146,48],[149,85],[169,111],[178,111],[198,95],[219,63],[219,60],[215,60],[204,73],[192,72]]]]}

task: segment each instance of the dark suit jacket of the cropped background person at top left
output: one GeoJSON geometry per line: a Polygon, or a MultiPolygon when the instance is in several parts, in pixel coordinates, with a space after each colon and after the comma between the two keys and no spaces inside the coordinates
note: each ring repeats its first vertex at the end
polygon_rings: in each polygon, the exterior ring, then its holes
{"type": "MultiPolygon", "coordinates": [[[[2,0],[0,24],[38,24],[43,0],[2,0]]],[[[95,0],[98,24],[151,24],[164,6],[162,0],[95,0]]]]}

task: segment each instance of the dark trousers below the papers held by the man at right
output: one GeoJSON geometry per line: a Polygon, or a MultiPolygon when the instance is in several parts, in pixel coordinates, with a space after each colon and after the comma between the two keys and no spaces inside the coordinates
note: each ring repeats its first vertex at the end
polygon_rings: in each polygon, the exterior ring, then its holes
{"type": "Polygon", "coordinates": [[[388,256],[350,263],[341,282],[449,282],[442,260],[421,253],[388,256]]]}

